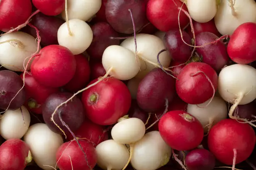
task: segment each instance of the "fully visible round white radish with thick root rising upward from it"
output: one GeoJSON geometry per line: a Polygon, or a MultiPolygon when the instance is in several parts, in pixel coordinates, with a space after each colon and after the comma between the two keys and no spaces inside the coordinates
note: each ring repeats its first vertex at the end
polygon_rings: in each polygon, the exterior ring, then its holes
{"type": "Polygon", "coordinates": [[[67,22],[58,30],[59,45],[67,47],[74,55],[84,52],[92,43],[92,29],[83,20],[69,20],[71,35],[67,29],[67,22]]]}

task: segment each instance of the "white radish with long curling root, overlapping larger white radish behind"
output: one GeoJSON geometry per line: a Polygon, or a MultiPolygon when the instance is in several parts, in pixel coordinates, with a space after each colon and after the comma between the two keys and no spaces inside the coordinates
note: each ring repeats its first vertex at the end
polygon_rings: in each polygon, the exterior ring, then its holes
{"type": "Polygon", "coordinates": [[[119,45],[110,45],[102,55],[102,65],[106,71],[111,69],[110,75],[119,80],[129,80],[137,75],[140,62],[135,54],[119,45]]]}

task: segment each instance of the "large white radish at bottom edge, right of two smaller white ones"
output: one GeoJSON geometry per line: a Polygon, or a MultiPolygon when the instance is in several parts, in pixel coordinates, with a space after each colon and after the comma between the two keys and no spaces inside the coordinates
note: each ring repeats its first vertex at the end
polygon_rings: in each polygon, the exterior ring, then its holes
{"type": "Polygon", "coordinates": [[[136,170],[156,170],[168,163],[172,155],[170,148],[158,131],[146,133],[135,143],[131,165],[136,170]]]}

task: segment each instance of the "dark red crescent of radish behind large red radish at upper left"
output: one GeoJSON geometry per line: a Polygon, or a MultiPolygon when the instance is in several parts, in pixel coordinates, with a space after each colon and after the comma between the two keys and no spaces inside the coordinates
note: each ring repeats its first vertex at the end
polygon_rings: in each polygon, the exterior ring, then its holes
{"type": "Polygon", "coordinates": [[[90,80],[90,65],[87,58],[82,55],[75,55],[76,72],[74,77],[64,86],[69,92],[77,92],[84,88],[90,80]]]}

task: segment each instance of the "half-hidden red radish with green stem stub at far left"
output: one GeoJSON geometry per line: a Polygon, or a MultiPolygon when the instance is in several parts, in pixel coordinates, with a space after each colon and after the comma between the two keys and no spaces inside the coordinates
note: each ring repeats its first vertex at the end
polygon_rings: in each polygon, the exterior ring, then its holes
{"type": "MultiPolygon", "coordinates": [[[[30,73],[31,74],[31,73],[30,73]]],[[[20,75],[23,80],[23,73],[20,75]]],[[[33,75],[25,75],[25,92],[26,92],[26,102],[25,105],[31,112],[36,114],[42,114],[41,105],[44,104],[45,100],[49,95],[59,92],[59,88],[56,87],[46,87],[39,84],[33,77],[33,75]],[[36,103],[37,107],[29,107],[28,102],[32,100],[36,103]]]]}

